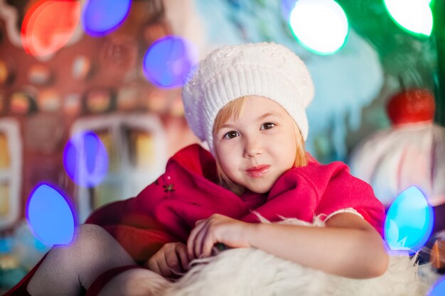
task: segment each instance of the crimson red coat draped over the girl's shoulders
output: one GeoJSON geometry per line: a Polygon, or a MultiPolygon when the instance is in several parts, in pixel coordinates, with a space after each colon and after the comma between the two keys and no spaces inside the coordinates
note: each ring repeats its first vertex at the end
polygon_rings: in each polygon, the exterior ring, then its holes
{"type": "Polygon", "coordinates": [[[270,221],[283,216],[311,222],[314,216],[353,208],[382,234],[382,204],[370,185],[350,175],[341,162],[321,165],[311,160],[284,173],[268,194],[237,196],[215,180],[212,155],[197,144],[188,146],[173,155],[166,172],[136,197],[97,209],[87,223],[107,229],[139,262],[164,243],[185,243],[195,221],[215,213],[254,223],[254,210],[270,221]]]}

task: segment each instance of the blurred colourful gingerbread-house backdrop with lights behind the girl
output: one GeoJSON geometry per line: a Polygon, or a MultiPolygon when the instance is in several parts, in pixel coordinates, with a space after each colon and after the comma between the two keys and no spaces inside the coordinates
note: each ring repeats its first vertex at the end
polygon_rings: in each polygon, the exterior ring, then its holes
{"type": "Polygon", "coordinates": [[[0,0],[0,287],[198,142],[181,103],[188,71],[220,45],[261,41],[286,45],[311,72],[309,153],[348,163],[387,209],[417,186],[422,246],[443,254],[434,234],[445,229],[444,6],[0,0]]]}

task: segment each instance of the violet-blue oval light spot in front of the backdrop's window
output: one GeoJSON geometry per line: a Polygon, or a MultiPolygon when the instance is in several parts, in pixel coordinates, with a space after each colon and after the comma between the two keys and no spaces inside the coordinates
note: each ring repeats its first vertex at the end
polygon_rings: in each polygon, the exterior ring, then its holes
{"type": "Polygon", "coordinates": [[[92,131],[76,133],[63,150],[63,165],[70,178],[83,187],[95,187],[108,173],[107,149],[92,131]]]}

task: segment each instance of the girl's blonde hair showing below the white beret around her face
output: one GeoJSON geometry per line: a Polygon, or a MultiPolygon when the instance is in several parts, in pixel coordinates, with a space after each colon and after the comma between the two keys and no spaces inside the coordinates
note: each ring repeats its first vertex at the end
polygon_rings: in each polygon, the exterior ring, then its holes
{"type": "MultiPolygon", "coordinates": [[[[215,133],[217,133],[220,130],[221,126],[223,126],[223,124],[225,124],[231,117],[233,117],[233,119],[235,120],[240,118],[242,111],[244,111],[244,106],[245,103],[247,102],[247,99],[249,98],[240,97],[238,99],[234,99],[233,101],[228,102],[225,106],[223,106],[223,108],[220,109],[220,111],[215,117],[215,123],[213,124],[213,129],[212,129],[213,137],[215,137],[215,133]]],[[[293,119],[292,122],[294,124],[295,141],[296,141],[296,155],[295,155],[294,167],[297,168],[307,165],[308,155],[304,148],[304,139],[303,136],[301,135],[300,129],[296,125],[293,119]]],[[[229,177],[227,177],[227,175],[225,175],[225,173],[221,169],[218,156],[217,155],[215,156],[216,156],[215,160],[216,160],[219,185],[226,188],[227,190],[230,190],[231,192],[234,192],[237,195],[242,194],[242,192],[244,192],[244,187],[236,184],[235,182],[230,180],[229,177]]]]}

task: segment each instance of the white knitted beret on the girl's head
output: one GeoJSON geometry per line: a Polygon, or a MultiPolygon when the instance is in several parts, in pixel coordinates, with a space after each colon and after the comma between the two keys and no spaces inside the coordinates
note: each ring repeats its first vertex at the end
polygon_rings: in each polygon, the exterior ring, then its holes
{"type": "Polygon", "coordinates": [[[196,65],[182,90],[188,125],[201,141],[213,147],[213,124],[225,104],[257,95],[280,104],[294,119],[306,140],[306,107],[313,83],[304,62],[275,43],[232,45],[213,50],[196,65]]]}

